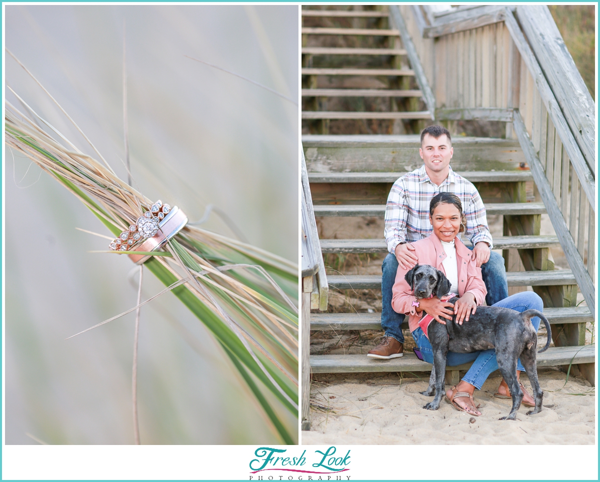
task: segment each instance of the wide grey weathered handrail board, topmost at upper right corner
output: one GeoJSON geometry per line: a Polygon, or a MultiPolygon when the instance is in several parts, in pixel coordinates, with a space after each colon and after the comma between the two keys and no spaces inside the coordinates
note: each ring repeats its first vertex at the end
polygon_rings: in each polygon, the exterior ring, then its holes
{"type": "Polygon", "coordinates": [[[550,10],[546,5],[520,5],[517,17],[588,166],[595,172],[596,105],[550,10]]]}

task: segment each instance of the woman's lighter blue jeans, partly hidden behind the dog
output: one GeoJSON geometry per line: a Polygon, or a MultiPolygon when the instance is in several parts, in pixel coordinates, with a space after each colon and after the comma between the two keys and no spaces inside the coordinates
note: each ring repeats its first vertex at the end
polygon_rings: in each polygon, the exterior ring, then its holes
{"type": "MultiPolygon", "coordinates": [[[[542,298],[535,294],[533,291],[523,291],[506,298],[505,300],[499,301],[494,306],[501,306],[503,308],[509,308],[517,312],[523,313],[525,310],[533,309],[542,311],[544,309],[544,303],[542,298]]],[[[535,316],[531,319],[531,323],[536,331],[539,328],[539,322],[541,320],[535,316]]],[[[433,322],[435,323],[435,322],[433,322]]],[[[467,323],[469,323],[467,321],[467,323]]],[[[421,330],[421,327],[417,328],[412,332],[412,336],[415,339],[416,345],[423,354],[423,358],[427,363],[433,364],[433,350],[431,349],[431,343],[421,330]]],[[[496,361],[496,350],[481,350],[473,353],[455,353],[448,352],[446,355],[446,363],[449,367],[462,365],[463,363],[469,363],[475,361],[470,367],[469,371],[464,375],[463,381],[475,385],[478,390],[481,390],[482,385],[487,380],[490,373],[498,369],[498,362],[496,361]]],[[[517,363],[517,370],[524,372],[525,369],[521,364],[521,360],[517,363]]]]}

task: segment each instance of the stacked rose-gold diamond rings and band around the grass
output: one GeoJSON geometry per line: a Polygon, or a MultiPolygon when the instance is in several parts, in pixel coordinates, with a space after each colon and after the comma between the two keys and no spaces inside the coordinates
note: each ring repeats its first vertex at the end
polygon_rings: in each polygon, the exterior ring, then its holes
{"type": "MultiPolygon", "coordinates": [[[[177,206],[171,208],[160,200],[152,204],[149,211],[137,218],[118,238],[110,243],[116,251],[151,252],[160,249],[187,224],[188,218],[177,206]]],[[[131,261],[142,264],[149,255],[130,254],[131,261]]]]}

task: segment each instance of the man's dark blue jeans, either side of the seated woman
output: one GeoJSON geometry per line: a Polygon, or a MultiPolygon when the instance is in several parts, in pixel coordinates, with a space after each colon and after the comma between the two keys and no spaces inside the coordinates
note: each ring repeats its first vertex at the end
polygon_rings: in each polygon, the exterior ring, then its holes
{"type": "MultiPolygon", "coordinates": [[[[394,255],[390,253],[385,257],[381,271],[383,273],[381,279],[381,326],[385,330],[385,336],[404,343],[404,335],[400,328],[404,322],[404,314],[396,313],[392,309],[392,286],[394,286],[398,271],[398,260],[394,255]]],[[[481,265],[481,276],[488,291],[485,295],[487,306],[492,306],[508,297],[506,270],[502,256],[491,252],[488,262],[481,265]]]]}

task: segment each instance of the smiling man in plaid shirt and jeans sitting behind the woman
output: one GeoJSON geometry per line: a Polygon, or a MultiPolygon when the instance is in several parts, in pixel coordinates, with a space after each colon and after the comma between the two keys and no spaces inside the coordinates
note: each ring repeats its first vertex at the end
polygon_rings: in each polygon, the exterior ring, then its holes
{"type": "Polygon", "coordinates": [[[487,288],[485,301],[488,306],[508,297],[504,259],[491,252],[493,247],[485,206],[475,186],[455,173],[450,167],[454,154],[448,130],[441,125],[431,125],[421,133],[419,155],[423,166],[399,178],[388,196],[385,210],[385,239],[389,254],[382,265],[382,313],[381,325],[385,330],[382,342],[367,357],[389,359],[403,355],[404,336],[401,325],[404,315],[392,310],[392,286],[398,264],[412,268],[418,262],[411,241],[430,235],[429,203],[440,191],[456,194],[463,205],[467,218],[464,235],[473,247],[473,259],[481,267],[487,288]]]}

